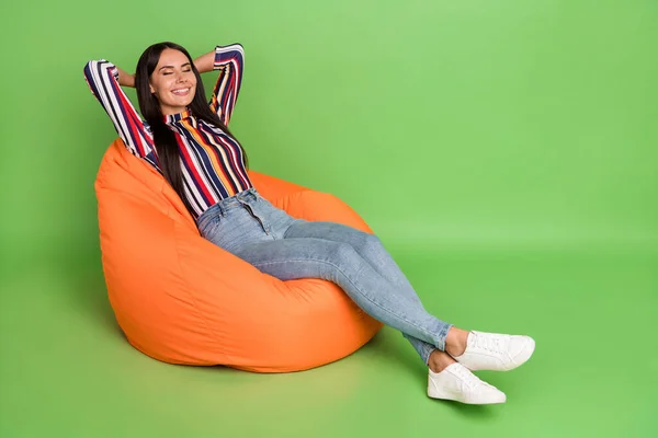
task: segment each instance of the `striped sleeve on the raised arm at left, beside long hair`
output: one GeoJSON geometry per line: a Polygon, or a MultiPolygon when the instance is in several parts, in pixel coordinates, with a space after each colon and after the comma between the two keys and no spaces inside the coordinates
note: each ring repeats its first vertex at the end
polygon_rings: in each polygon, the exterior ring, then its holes
{"type": "Polygon", "coordinates": [[[157,168],[154,138],[118,84],[118,70],[105,59],[87,62],[84,79],[127,149],[157,168]]]}

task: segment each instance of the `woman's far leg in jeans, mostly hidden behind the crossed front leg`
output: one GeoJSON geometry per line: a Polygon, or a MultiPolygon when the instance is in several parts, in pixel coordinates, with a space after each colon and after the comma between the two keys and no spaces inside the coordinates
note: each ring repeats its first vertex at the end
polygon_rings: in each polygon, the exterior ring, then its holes
{"type": "MultiPolygon", "coordinates": [[[[413,287],[376,235],[336,222],[296,221],[288,228],[285,238],[322,239],[351,245],[377,274],[397,288],[398,293],[406,296],[410,301],[415,302],[419,311],[426,312],[413,287]]],[[[449,325],[452,326],[452,324],[449,325]]],[[[405,332],[402,332],[402,336],[409,341],[424,364],[429,365],[430,355],[435,346],[405,332]]],[[[444,343],[440,345],[440,348],[445,348],[444,343]]]]}

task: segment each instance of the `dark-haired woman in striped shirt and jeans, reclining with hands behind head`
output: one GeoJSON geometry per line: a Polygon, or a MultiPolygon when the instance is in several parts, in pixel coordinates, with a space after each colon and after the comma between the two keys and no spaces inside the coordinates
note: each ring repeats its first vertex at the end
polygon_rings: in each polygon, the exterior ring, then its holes
{"type": "Polygon", "coordinates": [[[534,351],[529,336],[468,332],[429,314],[379,240],[332,222],[294,219],[253,188],[229,124],[242,80],[239,44],[192,59],[173,43],[150,46],[128,74],[106,60],[84,77],[128,150],[158,170],[201,234],[282,280],[322,278],[399,330],[429,367],[428,395],[470,404],[506,395],[472,373],[510,370],[534,351]],[[200,73],[219,70],[209,105],[200,73]],[[135,87],[138,115],[121,87],[135,87]]]}

